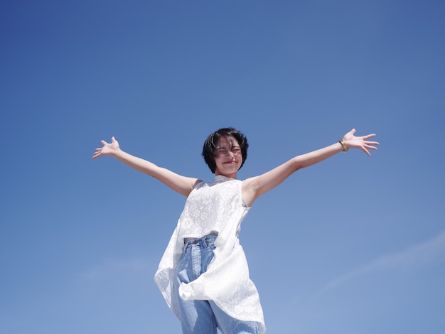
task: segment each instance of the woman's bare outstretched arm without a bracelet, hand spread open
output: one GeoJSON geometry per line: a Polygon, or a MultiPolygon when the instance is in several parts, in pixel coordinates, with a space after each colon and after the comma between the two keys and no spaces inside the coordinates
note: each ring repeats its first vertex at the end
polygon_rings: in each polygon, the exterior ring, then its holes
{"type": "Polygon", "coordinates": [[[107,143],[107,141],[101,141],[104,146],[97,148],[92,158],[99,158],[100,156],[113,156],[119,161],[122,161],[127,166],[130,166],[136,171],[146,173],[149,176],[156,178],[165,185],[168,185],[171,189],[180,193],[181,195],[188,196],[191,190],[198,183],[198,178],[188,178],[186,176],[181,176],[179,174],[173,173],[166,168],[161,168],[156,166],[150,161],[146,161],[137,156],[132,156],[131,154],[122,151],[119,147],[119,143],[114,137],[112,137],[112,142],[107,143]]]}

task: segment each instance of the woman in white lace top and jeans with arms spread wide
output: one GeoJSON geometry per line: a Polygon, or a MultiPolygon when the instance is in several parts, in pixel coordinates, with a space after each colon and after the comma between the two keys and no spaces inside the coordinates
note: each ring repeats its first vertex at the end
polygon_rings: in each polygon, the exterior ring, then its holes
{"type": "Polygon", "coordinates": [[[186,196],[186,205],[163,254],[155,281],[171,311],[181,320],[183,333],[265,333],[257,289],[249,278],[240,246],[240,225],[259,196],[292,173],[341,151],[360,149],[370,156],[375,134],[343,139],[296,156],[260,176],[237,180],[247,158],[247,139],[236,129],[219,129],[208,136],[203,156],[215,174],[213,182],[180,176],[154,163],[132,156],[111,143],[95,150],[92,158],[113,156],[138,171],[153,176],[186,196]]]}

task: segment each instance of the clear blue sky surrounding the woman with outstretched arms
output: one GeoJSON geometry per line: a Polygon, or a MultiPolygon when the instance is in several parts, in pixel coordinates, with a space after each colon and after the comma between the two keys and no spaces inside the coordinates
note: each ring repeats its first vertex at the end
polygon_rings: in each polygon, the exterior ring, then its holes
{"type": "Polygon", "coordinates": [[[241,242],[268,333],[445,328],[444,1],[2,1],[0,333],[180,333],[153,275],[185,198],[100,140],[213,180],[375,132],[260,198],[241,242]]]}

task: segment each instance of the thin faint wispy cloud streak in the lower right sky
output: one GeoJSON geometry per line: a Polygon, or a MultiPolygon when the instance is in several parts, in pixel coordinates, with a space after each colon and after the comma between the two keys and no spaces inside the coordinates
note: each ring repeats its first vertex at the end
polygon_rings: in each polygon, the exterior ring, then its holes
{"type": "Polygon", "coordinates": [[[445,261],[445,231],[439,233],[435,237],[415,244],[412,247],[395,252],[385,254],[382,257],[372,260],[365,266],[348,272],[343,276],[333,279],[323,286],[316,296],[320,296],[326,291],[336,288],[337,286],[354,279],[358,276],[375,273],[378,271],[394,271],[402,269],[419,270],[428,266],[433,266],[445,261]]]}

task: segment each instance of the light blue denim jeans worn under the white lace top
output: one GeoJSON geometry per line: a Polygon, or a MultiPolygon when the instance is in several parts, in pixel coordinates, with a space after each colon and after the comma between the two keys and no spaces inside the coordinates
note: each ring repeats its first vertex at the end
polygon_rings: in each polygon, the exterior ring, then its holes
{"type": "Polygon", "coordinates": [[[216,235],[195,239],[184,245],[181,260],[176,267],[176,280],[173,293],[178,300],[179,316],[183,334],[217,334],[217,328],[223,334],[257,334],[257,323],[242,321],[228,316],[213,301],[183,301],[178,296],[182,282],[189,283],[207,271],[213,259],[216,235]]]}

